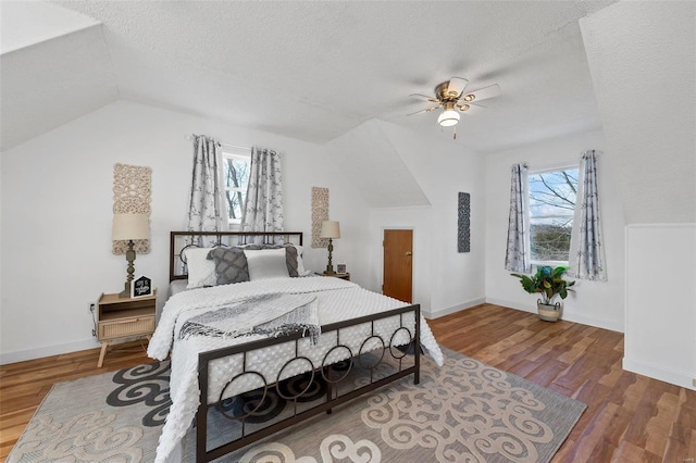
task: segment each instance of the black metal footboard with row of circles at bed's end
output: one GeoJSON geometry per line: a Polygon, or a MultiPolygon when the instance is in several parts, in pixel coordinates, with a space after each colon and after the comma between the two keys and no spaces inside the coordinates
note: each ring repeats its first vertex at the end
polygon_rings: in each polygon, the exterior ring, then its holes
{"type": "Polygon", "coordinates": [[[200,353],[196,461],[217,459],[309,417],[331,413],[341,403],[408,375],[413,374],[418,384],[420,325],[420,305],[415,304],[324,325],[316,345],[296,333],[200,353]],[[357,330],[365,335],[357,339],[357,330]],[[278,345],[289,345],[291,349],[285,351],[294,353],[273,359],[276,363],[270,371],[259,367],[263,352],[278,345]],[[226,358],[234,358],[239,366],[226,373],[224,386],[216,390],[211,380],[225,370],[221,366],[233,363],[226,358]],[[246,385],[243,392],[240,383],[246,385]],[[249,384],[254,385],[252,390],[249,384]],[[270,395],[284,401],[284,409],[259,423],[260,409],[270,395]],[[245,396],[252,398],[245,402],[245,396]]]}

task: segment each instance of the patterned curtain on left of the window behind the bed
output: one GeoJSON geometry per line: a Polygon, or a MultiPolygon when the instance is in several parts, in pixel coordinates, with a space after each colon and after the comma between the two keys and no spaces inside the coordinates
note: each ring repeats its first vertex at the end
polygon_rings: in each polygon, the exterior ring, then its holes
{"type": "MultiPolygon", "coordinates": [[[[194,173],[188,202],[186,229],[191,232],[217,232],[226,229],[226,211],[221,188],[220,142],[204,135],[194,137],[194,173]]],[[[214,242],[214,239],[207,240],[214,242]]],[[[199,242],[200,246],[203,242],[199,242]]]]}

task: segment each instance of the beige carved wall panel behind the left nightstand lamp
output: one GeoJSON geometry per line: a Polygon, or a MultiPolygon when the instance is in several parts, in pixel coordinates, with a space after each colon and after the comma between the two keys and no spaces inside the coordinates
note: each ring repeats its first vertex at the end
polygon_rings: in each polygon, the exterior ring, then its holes
{"type": "MultiPolygon", "coordinates": [[[[113,213],[150,215],[152,168],[139,165],[115,164],[113,166],[113,213]]],[[[150,252],[149,239],[136,239],[135,252],[150,252]]],[[[113,241],[113,253],[125,254],[126,241],[113,241]]]]}

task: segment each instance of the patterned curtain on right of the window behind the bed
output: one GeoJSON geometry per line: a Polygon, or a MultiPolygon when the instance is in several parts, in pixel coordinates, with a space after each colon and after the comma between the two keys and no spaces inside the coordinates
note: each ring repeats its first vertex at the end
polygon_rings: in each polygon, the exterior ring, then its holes
{"type": "Polygon", "coordinates": [[[241,214],[243,232],[283,232],[281,155],[253,147],[249,188],[241,214]]]}

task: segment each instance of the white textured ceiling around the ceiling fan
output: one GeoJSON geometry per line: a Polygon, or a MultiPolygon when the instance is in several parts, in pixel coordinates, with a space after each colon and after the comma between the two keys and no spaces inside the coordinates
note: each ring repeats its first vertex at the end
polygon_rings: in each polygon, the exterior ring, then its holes
{"type": "Polygon", "coordinates": [[[612,1],[54,1],[102,26],[2,55],[2,145],[116,98],[318,143],[372,118],[451,138],[406,115],[450,76],[501,88],[462,115],[471,148],[597,128],[577,20],[612,1]]]}

